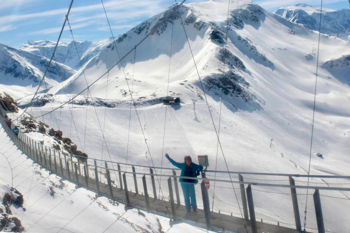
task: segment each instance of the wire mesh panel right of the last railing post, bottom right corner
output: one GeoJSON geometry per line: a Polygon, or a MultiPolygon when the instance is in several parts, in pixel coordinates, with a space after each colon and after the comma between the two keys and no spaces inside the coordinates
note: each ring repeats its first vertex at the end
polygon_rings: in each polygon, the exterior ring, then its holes
{"type": "Polygon", "coordinates": [[[320,190],[324,230],[350,232],[350,191],[320,190]]]}

